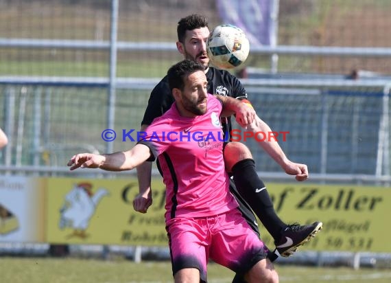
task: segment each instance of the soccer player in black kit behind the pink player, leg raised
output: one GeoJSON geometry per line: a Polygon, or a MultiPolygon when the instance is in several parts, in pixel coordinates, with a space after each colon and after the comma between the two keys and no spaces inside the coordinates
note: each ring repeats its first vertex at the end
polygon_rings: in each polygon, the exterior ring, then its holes
{"type": "MultiPolygon", "coordinates": [[[[185,58],[200,62],[206,68],[208,93],[229,95],[237,99],[246,99],[247,93],[241,82],[228,71],[209,67],[209,58],[206,54],[206,41],[209,36],[208,20],[205,16],[192,14],[180,19],[177,27],[178,42],[176,47],[185,58]]],[[[165,113],[174,103],[167,76],[152,90],[147,109],[141,122],[143,131],[154,118],[165,113]]],[[[225,135],[230,133],[230,118],[222,117],[225,135]]],[[[272,130],[258,116],[248,131],[269,133],[272,130]]],[[[227,139],[225,139],[227,140],[227,139]]],[[[296,176],[297,181],[308,178],[305,164],[294,163],[287,159],[277,141],[265,140],[259,144],[268,152],[281,168],[287,173],[296,176]]],[[[322,223],[311,225],[287,225],[277,216],[265,184],[259,179],[250,150],[239,142],[228,142],[224,147],[224,161],[227,172],[233,177],[230,190],[240,205],[240,210],[250,226],[259,234],[257,220],[252,211],[257,214],[270,235],[274,238],[276,250],[281,256],[287,257],[294,253],[298,246],[311,239],[321,228],[322,223]]],[[[152,163],[145,162],[137,168],[140,193],[134,199],[134,210],[145,213],[152,204],[150,188],[152,163]]]]}

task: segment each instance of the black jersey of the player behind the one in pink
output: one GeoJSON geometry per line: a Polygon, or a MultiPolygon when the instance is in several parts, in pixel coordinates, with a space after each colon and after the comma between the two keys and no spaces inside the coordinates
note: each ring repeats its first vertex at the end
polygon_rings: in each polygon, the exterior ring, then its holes
{"type": "MultiPolygon", "coordinates": [[[[228,71],[209,67],[206,72],[206,80],[208,80],[208,93],[220,94],[238,99],[247,98],[246,89],[244,89],[241,82],[228,71]]],[[[167,76],[165,76],[152,90],[141,124],[152,124],[152,121],[156,117],[163,115],[173,103],[174,96],[172,96],[172,93],[169,90],[167,76]]],[[[221,122],[224,134],[227,135],[231,131],[230,117],[222,118],[221,122]]]]}

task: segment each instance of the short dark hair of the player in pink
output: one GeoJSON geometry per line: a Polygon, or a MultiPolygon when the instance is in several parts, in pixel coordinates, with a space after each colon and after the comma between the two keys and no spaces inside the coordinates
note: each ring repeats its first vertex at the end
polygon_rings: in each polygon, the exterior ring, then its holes
{"type": "Polygon", "coordinates": [[[185,88],[185,79],[195,71],[205,71],[205,67],[196,61],[185,59],[171,66],[167,71],[169,89],[185,88]]]}

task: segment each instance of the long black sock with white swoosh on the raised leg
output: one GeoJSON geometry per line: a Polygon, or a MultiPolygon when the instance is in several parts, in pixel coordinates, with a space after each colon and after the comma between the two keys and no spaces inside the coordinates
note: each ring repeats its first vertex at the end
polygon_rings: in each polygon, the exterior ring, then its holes
{"type": "Polygon", "coordinates": [[[254,160],[243,159],[237,162],[233,166],[232,172],[233,181],[239,194],[243,196],[254,213],[257,214],[259,220],[261,220],[261,223],[269,231],[274,240],[279,240],[281,230],[287,225],[277,216],[272,200],[265,188],[266,186],[258,177],[254,160]],[[255,192],[255,190],[261,188],[265,189],[260,192],[255,192]]]}

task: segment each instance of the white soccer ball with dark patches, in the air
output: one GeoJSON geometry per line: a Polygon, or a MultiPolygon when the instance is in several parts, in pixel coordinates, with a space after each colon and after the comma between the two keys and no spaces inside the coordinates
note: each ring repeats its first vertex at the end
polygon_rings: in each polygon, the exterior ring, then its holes
{"type": "Polygon", "coordinates": [[[235,25],[217,25],[206,42],[211,64],[219,69],[233,69],[244,63],[250,43],[243,30],[235,25]]]}

